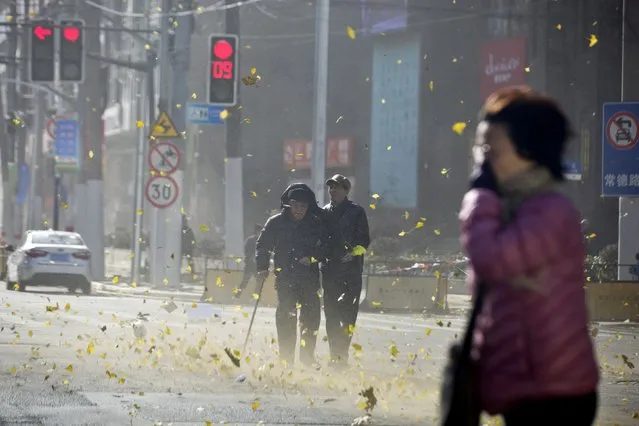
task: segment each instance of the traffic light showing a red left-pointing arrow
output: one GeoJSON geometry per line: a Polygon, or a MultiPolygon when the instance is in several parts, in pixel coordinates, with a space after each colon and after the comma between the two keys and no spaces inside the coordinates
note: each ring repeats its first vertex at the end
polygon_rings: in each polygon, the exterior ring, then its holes
{"type": "Polygon", "coordinates": [[[55,38],[53,21],[37,21],[31,27],[31,81],[55,80],[55,38]]]}

